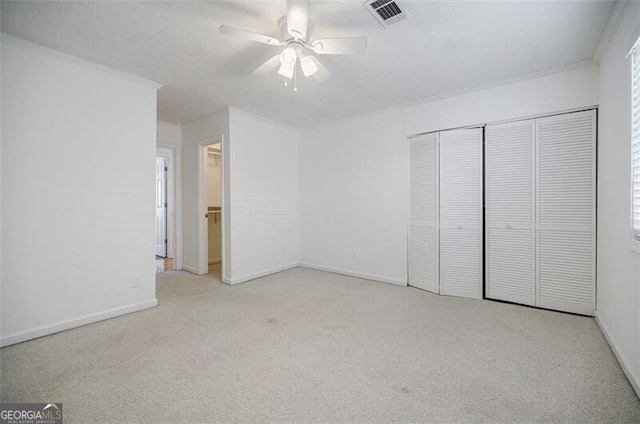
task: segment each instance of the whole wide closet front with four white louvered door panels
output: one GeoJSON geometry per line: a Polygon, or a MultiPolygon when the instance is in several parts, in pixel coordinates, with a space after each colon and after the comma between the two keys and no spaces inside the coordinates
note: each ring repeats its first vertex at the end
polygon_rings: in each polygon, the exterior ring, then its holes
{"type": "Polygon", "coordinates": [[[595,110],[411,138],[409,285],[593,315],[595,149],[595,110]]]}

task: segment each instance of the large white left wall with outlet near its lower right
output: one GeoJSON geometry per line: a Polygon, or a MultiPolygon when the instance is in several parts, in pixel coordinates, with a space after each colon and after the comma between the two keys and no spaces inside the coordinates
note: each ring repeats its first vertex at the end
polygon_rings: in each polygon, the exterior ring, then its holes
{"type": "Polygon", "coordinates": [[[157,85],[2,47],[1,343],[156,305],[157,85]]]}

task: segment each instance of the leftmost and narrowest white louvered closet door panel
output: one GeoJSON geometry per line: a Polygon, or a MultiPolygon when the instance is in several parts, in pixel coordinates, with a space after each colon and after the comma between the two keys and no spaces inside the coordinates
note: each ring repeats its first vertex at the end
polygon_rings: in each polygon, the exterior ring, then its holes
{"type": "Polygon", "coordinates": [[[439,293],[438,134],[409,141],[409,285],[439,293]]]}

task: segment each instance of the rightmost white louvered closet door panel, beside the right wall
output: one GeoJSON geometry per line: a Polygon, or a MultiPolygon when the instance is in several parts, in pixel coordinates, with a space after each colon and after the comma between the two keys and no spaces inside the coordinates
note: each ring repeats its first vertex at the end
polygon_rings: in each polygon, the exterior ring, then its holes
{"type": "Polygon", "coordinates": [[[536,120],[538,306],[595,310],[595,111],[536,120]]]}

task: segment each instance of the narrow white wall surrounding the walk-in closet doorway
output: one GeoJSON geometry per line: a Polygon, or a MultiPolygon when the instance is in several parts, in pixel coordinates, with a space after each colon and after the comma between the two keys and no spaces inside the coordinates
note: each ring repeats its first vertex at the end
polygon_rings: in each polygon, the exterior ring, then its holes
{"type": "MultiPolygon", "coordinates": [[[[201,145],[222,141],[223,162],[229,164],[229,110],[223,109],[203,116],[182,126],[182,213],[183,213],[183,268],[198,272],[198,220],[204,216],[204,210],[198,207],[198,149],[201,145]]],[[[229,184],[229,166],[224,169],[224,184],[229,184]]],[[[229,235],[228,190],[223,190],[222,228],[224,241],[223,281],[231,278],[231,244],[229,235]]],[[[206,205],[205,205],[206,207],[206,205]]]]}

